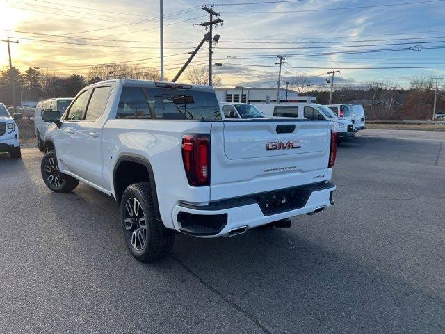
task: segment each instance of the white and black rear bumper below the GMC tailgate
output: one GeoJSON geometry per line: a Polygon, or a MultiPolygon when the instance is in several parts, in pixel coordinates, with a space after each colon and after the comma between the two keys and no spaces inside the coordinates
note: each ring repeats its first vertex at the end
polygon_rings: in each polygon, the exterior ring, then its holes
{"type": "MultiPolygon", "coordinates": [[[[333,204],[332,193],[336,186],[332,182],[321,182],[296,188],[259,193],[231,200],[220,200],[209,205],[176,205],[172,212],[175,229],[196,237],[229,237],[238,228],[257,228],[273,221],[310,214],[333,204]],[[286,194],[297,191],[287,204],[280,202],[286,194]],[[267,209],[268,202],[280,203],[267,209]]],[[[289,196],[291,198],[291,196],[289,196]]]]}

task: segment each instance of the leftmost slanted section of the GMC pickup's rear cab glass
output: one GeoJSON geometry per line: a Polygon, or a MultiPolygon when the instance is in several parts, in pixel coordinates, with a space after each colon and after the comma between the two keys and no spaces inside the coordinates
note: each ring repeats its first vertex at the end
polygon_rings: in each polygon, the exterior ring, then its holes
{"type": "Polygon", "coordinates": [[[122,88],[116,118],[152,118],[147,97],[142,88],[122,88]]]}

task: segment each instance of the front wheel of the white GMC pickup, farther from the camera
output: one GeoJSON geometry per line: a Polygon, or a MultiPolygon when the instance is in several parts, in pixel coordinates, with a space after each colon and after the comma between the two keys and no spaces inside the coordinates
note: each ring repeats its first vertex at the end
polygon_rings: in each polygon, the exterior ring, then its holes
{"type": "Polygon", "coordinates": [[[79,184],[79,180],[74,179],[74,177],[60,173],[56,152],[54,151],[44,154],[40,171],[44,184],[56,193],[67,193],[75,189],[79,184]]]}

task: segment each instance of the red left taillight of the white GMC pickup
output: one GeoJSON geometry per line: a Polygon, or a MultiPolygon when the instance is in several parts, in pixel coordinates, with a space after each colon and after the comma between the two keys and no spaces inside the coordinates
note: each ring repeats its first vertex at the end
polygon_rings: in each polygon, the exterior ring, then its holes
{"type": "Polygon", "coordinates": [[[186,134],[182,138],[182,161],[188,184],[209,186],[210,136],[207,134],[186,134]]]}

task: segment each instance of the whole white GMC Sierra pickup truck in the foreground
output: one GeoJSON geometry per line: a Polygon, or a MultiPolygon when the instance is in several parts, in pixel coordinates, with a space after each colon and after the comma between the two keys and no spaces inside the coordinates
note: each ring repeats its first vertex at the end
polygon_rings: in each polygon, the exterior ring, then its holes
{"type": "Polygon", "coordinates": [[[81,90],[44,136],[52,191],[79,180],[120,203],[136,259],[167,254],[175,234],[230,237],[330,207],[337,134],[326,120],[222,120],[210,86],[111,80],[81,90]]]}

